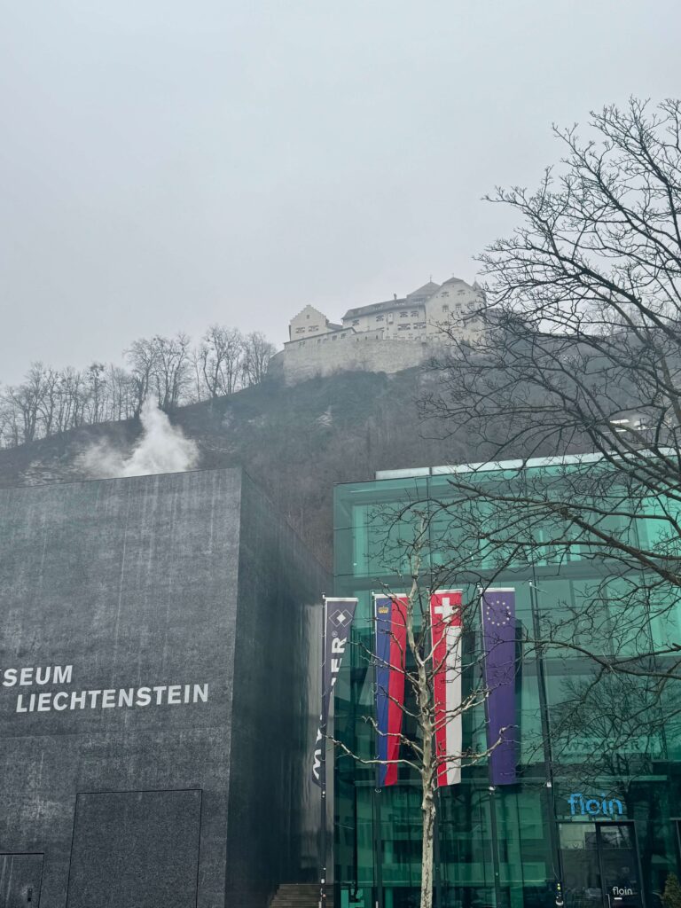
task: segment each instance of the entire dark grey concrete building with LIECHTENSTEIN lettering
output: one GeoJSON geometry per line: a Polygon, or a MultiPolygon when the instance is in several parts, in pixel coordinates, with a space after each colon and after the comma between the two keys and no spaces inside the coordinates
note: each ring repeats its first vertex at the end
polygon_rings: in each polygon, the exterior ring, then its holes
{"type": "Polygon", "coordinates": [[[325,584],[240,470],[0,490],[4,908],[264,908],[313,879],[325,584]]]}

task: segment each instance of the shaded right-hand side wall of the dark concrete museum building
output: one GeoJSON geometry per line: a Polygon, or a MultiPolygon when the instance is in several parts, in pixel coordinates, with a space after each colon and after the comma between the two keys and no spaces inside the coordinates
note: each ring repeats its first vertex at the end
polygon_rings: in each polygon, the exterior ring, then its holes
{"type": "Polygon", "coordinates": [[[240,734],[232,741],[227,844],[231,906],[252,903],[254,894],[264,904],[278,883],[312,882],[319,873],[311,743],[320,709],[320,594],[331,587],[273,513],[244,483],[232,700],[232,726],[240,734]],[[317,658],[306,684],[312,652],[317,658]]]}

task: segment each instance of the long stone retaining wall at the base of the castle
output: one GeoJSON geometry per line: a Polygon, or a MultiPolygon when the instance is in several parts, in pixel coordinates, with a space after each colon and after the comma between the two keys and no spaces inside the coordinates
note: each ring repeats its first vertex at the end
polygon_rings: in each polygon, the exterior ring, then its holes
{"type": "Polygon", "coordinates": [[[349,335],[334,342],[287,344],[270,360],[270,372],[286,384],[339,371],[400,372],[419,366],[433,355],[426,341],[385,341],[380,337],[349,335]]]}

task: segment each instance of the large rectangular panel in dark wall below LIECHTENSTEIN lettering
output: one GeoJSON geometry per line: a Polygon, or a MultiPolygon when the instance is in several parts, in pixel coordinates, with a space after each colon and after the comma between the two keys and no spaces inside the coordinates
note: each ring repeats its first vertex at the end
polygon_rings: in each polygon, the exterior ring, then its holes
{"type": "Polygon", "coordinates": [[[78,795],[68,908],[194,908],[201,791],[78,795]]]}

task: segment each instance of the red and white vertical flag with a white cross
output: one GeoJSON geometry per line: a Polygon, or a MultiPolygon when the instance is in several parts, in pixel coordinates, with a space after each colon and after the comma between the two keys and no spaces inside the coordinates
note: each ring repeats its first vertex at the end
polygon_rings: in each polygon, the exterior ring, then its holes
{"type": "Polygon", "coordinates": [[[461,781],[461,590],[430,597],[438,785],[461,781]]]}

